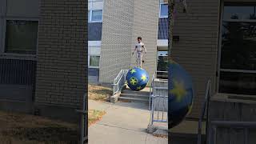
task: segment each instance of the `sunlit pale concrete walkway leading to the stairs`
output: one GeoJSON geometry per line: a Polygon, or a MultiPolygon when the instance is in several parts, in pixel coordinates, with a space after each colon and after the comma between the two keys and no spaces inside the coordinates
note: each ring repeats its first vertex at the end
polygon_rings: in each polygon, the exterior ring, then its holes
{"type": "Polygon", "coordinates": [[[167,144],[167,138],[146,133],[150,122],[148,106],[136,102],[96,102],[89,100],[89,109],[105,110],[100,122],[89,127],[90,144],[167,144]]]}

